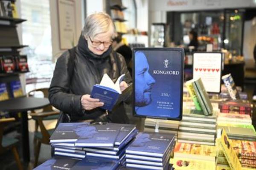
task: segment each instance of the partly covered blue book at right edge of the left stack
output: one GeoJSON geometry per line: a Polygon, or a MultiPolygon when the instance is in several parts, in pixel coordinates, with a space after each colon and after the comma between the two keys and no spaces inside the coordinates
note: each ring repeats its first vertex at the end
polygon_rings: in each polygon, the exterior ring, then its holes
{"type": "Polygon", "coordinates": [[[122,144],[122,142],[124,142],[135,129],[136,129],[135,125],[122,124],[122,127],[120,128],[120,131],[118,133],[118,136],[116,137],[115,145],[118,146],[122,144]]]}

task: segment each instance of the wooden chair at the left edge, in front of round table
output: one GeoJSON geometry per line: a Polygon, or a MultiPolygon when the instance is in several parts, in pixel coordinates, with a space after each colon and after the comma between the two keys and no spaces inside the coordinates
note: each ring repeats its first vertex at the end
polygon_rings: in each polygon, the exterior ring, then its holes
{"type": "Polygon", "coordinates": [[[23,170],[22,164],[20,162],[20,157],[17,152],[16,144],[19,142],[18,139],[3,136],[4,124],[15,121],[15,118],[4,118],[0,119],[0,154],[6,152],[6,150],[11,149],[15,157],[18,169],[23,170]]]}

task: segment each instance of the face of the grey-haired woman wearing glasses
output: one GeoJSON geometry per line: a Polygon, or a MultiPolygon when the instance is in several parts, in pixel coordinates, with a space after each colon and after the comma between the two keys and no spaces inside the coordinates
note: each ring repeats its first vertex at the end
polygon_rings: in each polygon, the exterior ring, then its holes
{"type": "Polygon", "coordinates": [[[94,37],[87,37],[88,48],[93,54],[102,55],[108,50],[112,43],[111,29],[108,32],[97,34],[94,37]]]}

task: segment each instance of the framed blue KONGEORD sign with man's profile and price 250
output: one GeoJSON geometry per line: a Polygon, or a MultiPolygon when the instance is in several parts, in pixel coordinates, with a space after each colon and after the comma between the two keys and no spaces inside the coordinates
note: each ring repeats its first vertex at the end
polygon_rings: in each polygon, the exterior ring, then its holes
{"type": "Polygon", "coordinates": [[[182,119],[182,48],[134,48],[135,116],[182,119]]]}

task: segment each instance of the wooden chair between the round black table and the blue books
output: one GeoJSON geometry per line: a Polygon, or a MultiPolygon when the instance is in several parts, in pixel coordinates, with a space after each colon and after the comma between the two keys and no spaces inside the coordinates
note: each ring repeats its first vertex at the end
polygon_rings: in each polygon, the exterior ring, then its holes
{"type": "MultiPolygon", "coordinates": [[[[33,91],[29,91],[28,96],[35,96],[36,93],[41,92],[43,97],[48,98],[48,88],[39,88],[33,91]]],[[[41,143],[49,144],[49,138],[52,135],[54,129],[47,130],[44,126],[44,120],[58,119],[59,111],[54,111],[52,105],[48,105],[42,109],[41,112],[31,111],[30,116],[35,120],[35,135],[34,135],[34,155],[35,163],[34,167],[38,164],[38,158],[40,153],[41,143]],[[38,131],[38,127],[41,131],[38,131]]]]}

